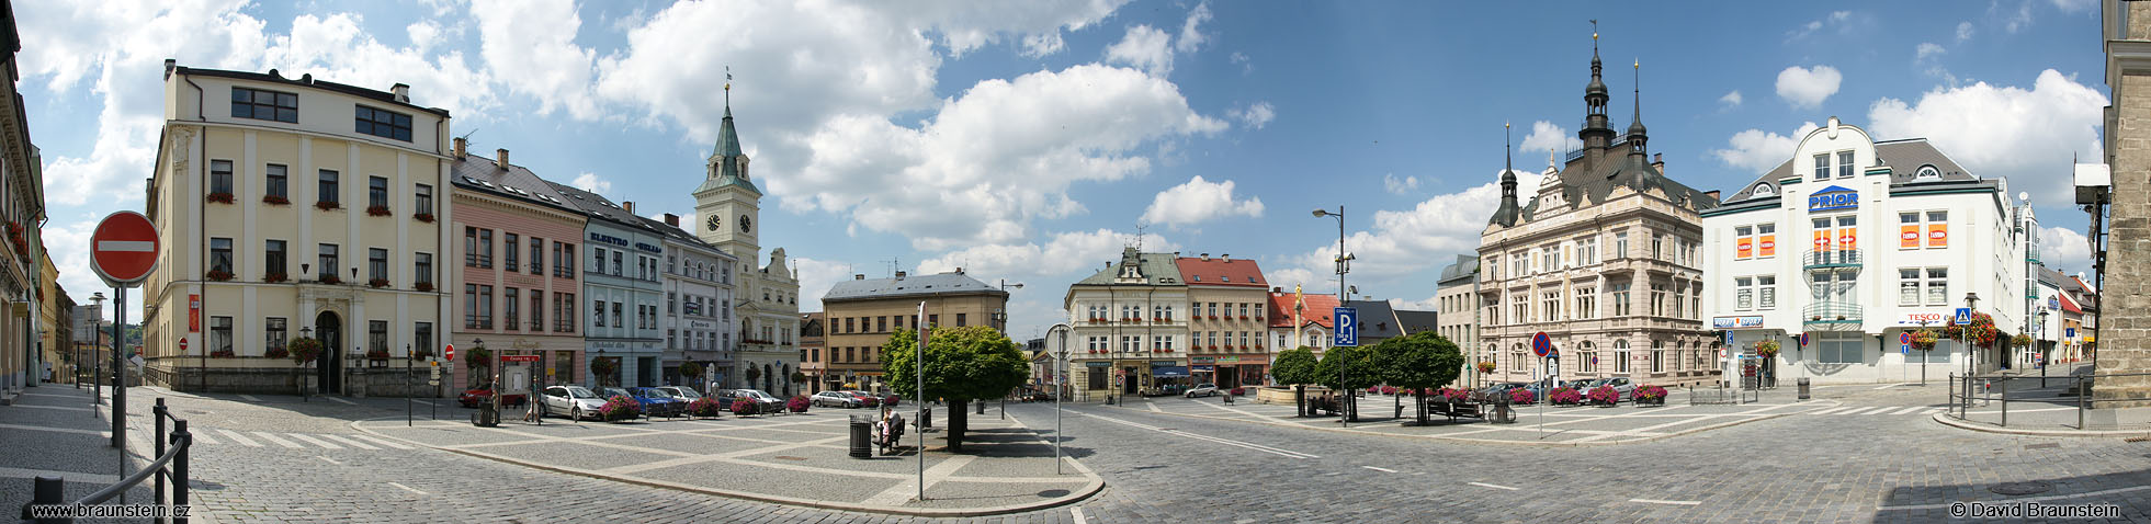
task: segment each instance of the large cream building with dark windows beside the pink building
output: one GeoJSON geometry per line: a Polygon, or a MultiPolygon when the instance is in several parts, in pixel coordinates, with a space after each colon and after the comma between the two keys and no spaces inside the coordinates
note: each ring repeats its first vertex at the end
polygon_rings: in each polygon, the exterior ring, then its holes
{"type": "Polygon", "coordinates": [[[443,333],[450,223],[447,110],[409,88],[166,60],[163,142],[148,183],[161,260],[142,283],[148,382],[181,391],[372,393],[370,350],[402,367],[417,333],[443,333]],[[432,215],[432,219],[424,219],[432,215]],[[432,258],[432,264],[422,260],[432,258]],[[320,365],[269,359],[290,339],[320,365]]]}

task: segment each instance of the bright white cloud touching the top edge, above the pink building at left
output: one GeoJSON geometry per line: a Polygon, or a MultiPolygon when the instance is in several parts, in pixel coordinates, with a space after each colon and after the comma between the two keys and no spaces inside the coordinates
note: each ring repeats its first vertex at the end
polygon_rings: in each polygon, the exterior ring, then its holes
{"type": "Polygon", "coordinates": [[[536,97],[538,114],[600,116],[589,88],[598,54],[574,45],[583,17],[572,0],[471,0],[471,15],[486,67],[512,75],[501,88],[536,97]]]}

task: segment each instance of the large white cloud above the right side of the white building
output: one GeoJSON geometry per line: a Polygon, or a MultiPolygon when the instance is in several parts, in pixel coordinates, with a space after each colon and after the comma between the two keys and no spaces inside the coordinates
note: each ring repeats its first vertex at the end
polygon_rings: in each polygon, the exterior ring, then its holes
{"type": "Polygon", "coordinates": [[[2097,159],[2106,94],[2059,71],[2033,86],[1934,88],[1917,103],[1880,99],[1867,110],[1876,137],[1927,137],[1979,176],[2007,176],[2033,202],[2076,202],[2065,170],[2071,157],[2097,159]]]}

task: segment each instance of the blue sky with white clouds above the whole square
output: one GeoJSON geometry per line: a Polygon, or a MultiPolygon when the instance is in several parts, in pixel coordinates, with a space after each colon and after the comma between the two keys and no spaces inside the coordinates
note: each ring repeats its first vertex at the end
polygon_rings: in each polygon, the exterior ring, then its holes
{"type": "MultiPolygon", "coordinates": [[[[1121,247],[1258,260],[1271,286],[1426,307],[1473,251],[1504,133],[1538,172],[1575,146],[1592,19],[1626,129],[1667,174],[1734,189],[1831,116],[1927,137],[2033,193],[2050,266],[2089,271],[2069,163],[2097,159],[2093,0],[1994,2],[17,2],[62,286],[142,208],[161,62],[385,90],[473,150],[686,215],[725,112],[753,157],[764,256],[800,309],[852,275],[957,266],[1013,290],[1011,337],[1121,247]],[[1628,64],[1626,69],[1622,64],[1628,64]],[[1639,99],[1635,90],[1641,88],[1639,99]],[[1504,125],[1512,129],[1504,131],[1504,125]]],[[[129,316],[140,318],[140,311],[129,316]]]]}

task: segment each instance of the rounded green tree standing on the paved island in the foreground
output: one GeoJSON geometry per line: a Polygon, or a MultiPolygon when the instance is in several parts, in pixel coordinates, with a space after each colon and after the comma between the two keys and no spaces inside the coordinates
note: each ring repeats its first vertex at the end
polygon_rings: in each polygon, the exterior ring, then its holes
{"type": "Polygon", "coordinates": [[[949,402],[949,451],[964,451],[966,410],[972,399],[1009,395],[1024,384],[1028,361],[1009,335],[989,326],[934,329],[925,350],[925,391],[918,391],[914,354],[918,354],[918,333],[903,329],[888,335],[882,356],[882,374],[897,395],[918,402],[949,402]]]}

